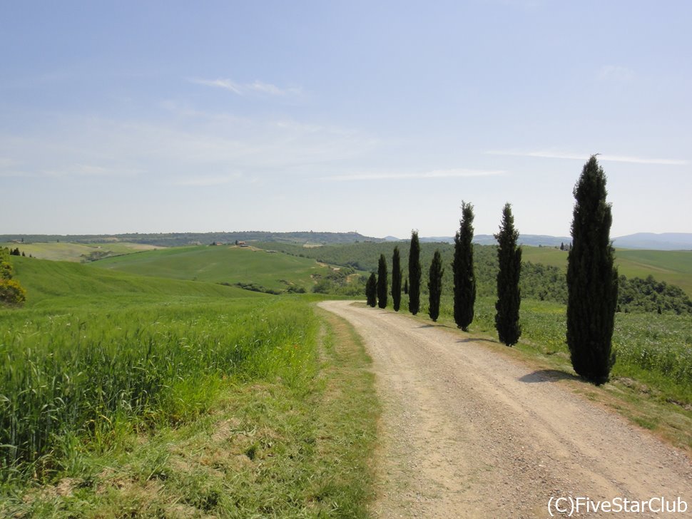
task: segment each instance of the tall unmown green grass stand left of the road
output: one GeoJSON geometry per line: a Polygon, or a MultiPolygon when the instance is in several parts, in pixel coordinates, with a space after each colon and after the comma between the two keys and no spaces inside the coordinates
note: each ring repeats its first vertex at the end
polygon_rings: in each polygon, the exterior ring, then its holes
{"type": "Polygon", "coordinates": [[[203,412],[225,377],[300,385],[317,324],[297,300],[4,314],[0,481],[59,468],[73,438],[108,448],[125,427],[203,412]]]}

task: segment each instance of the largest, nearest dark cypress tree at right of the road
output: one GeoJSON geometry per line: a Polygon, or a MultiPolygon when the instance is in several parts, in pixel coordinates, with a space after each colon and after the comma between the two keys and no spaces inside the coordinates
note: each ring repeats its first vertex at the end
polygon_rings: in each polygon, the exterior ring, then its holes
{"type": "Polygon", "coordinates": [[[572,245],[567,260],[567,345],[577,374],[596,385],[608,381],[618,271],[614,267],[606,202],[606,175],[592,155],[574,186],[572,245]]]}

